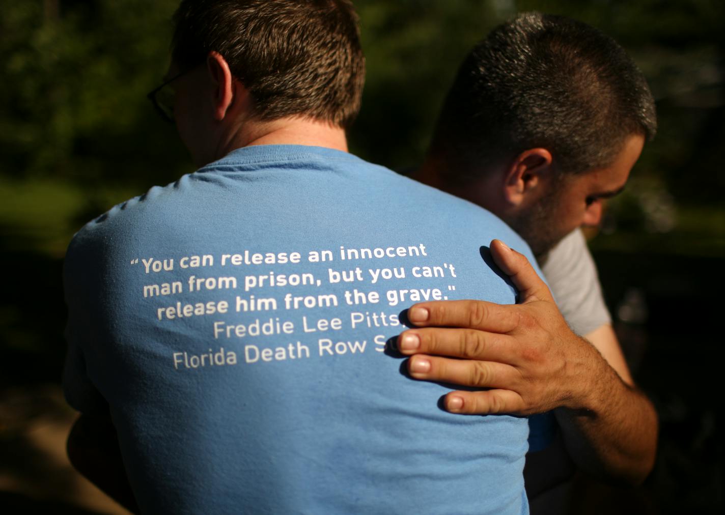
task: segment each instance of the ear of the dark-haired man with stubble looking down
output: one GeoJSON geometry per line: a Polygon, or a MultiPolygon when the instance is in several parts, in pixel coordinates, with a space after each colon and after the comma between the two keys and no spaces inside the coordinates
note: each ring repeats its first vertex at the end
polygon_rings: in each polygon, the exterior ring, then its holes
{"type": "Polygon", "coordinates": [[[506,201],[519,206],[529,199],[537,200],[542,192],[542,181],[552,177],[551,152],[546,148],[530,148],[510,162],[504,180],[506,201]]]}

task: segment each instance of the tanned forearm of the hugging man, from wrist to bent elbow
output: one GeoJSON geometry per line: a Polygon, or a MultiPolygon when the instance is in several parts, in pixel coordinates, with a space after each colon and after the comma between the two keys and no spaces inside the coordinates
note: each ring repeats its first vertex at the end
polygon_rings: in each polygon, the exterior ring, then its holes
{"type": "Polygon", "coordinates": [[[580,469],[608,480],[637,485],[655,461],[658,421],[654,406],[626,385],[591,348],[578,372],[580,391],[570,407],[555,410],[566,448],[580,469]]]}

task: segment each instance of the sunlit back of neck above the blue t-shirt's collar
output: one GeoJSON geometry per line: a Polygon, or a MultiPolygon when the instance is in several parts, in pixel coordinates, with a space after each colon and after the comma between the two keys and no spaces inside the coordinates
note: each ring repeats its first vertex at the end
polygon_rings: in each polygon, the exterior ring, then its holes
{"type": "Polygon", "coordinates": [[[271,122],[244,122],[223,138],[216,159],[229,152],[253,145],[309,145],[347,152],[345,131],[336,125],[310,118],[281,118],[271,122]]]}

